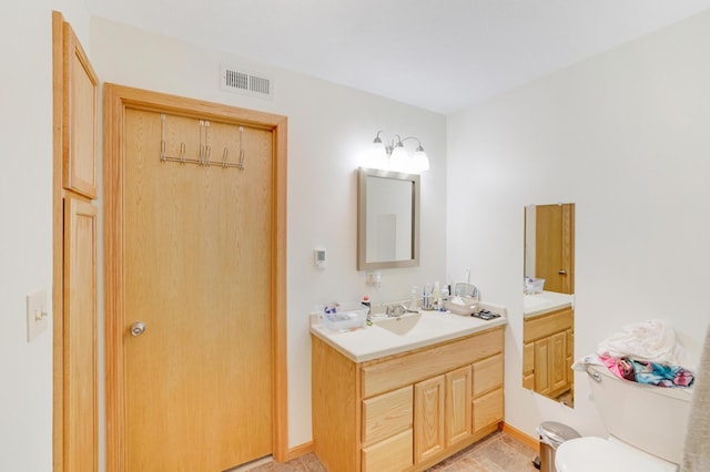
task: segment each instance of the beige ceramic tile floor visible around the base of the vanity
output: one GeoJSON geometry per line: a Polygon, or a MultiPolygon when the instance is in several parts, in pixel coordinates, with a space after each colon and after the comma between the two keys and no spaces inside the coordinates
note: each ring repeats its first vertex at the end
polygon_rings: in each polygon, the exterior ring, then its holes
{"type": "MultiPolygon", "coordinates": [[[[504,432],[495,432],[462,452],[436,464],[434,472],[537,472],[536,453],[504,432]]],[[[242,469],[244,470],[244,469],[242,469]]],[[[310,453],[286,463],[267,462],[250,472],[326,472],[315,454],[310,453]]],[[[337,472],[337,471],[329,471],[337,472]]]]}

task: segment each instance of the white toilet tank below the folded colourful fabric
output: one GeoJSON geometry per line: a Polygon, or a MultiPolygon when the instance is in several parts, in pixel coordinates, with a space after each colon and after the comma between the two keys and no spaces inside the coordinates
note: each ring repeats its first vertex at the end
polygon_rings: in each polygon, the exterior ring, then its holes
{"type": "Polygon", "coordinates": [[[692,390],[637,383],[604,366],[587,366],[592,398],[609,434],[679,464],[692,390]]]}

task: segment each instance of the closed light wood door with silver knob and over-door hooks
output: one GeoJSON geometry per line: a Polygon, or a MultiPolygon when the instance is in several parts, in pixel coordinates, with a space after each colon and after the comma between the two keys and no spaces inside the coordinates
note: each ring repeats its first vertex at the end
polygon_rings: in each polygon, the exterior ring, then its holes
{"type": "Polygon", "coordinates": [[[272,452],[272,133],[128,109],[123,294],[126,470],[222,471],[272,452]],[[205,141],[201,141],[205,140],[205,141]],[[215,152],[216,154],[216,152],[215,152]]]}

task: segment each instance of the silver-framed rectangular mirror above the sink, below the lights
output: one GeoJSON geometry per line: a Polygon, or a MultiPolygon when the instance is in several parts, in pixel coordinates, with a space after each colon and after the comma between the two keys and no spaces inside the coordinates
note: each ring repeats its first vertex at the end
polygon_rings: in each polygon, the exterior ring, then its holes
{"type": "Polygon", "coordinates": [[[357,270],[419,265],[419,176],[359,168],[357,270]]]}

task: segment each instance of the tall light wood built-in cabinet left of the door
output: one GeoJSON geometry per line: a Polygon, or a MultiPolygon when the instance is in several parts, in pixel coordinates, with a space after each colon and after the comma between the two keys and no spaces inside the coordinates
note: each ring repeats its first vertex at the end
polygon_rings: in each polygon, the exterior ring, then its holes
{"type": "Polygon", "coordinates": [[[53,469],[99,470],[97,131],[99,79],[52,12],[53,469]]]}

